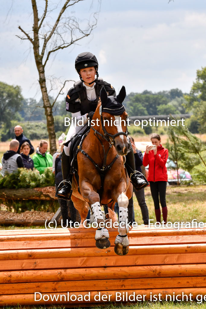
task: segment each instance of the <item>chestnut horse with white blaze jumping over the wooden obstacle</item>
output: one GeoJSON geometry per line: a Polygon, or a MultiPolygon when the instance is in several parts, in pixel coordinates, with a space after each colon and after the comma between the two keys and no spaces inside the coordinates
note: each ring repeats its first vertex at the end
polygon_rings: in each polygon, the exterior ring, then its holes
{"type": "MultiPolygon", "coordinates": [[[[114,210],[115,202],[119,204],[119,228],[115,240],[115,252],[118,255],[128,253],[128,200],[132,197],[130,183],[123,156],[129,150],[126,125],[127,113],[122,102],[126,96],[125,87],[119,95],[108,96],[104,87],[100,91],[100,103],[92,118],[94,126],[78,146],[78,183],[73,175],[72,201],[79,211],[82,226],[88,213],[88,203],[97,222],[95,234],[96,247],[110,246],[109,233],[105,228],[101,205],[108,205],[114,210]],[[122,119],[120,123],[120,117],[122,119]],[[106,121],[108,120],[108,121],[106,121]],[[123,121],[124,120],[124,121],[123,121]],[[116,122],[115,122],[116,121],[116,122]],[[112,122],[112,126],[109,125],[112,122]],[[123,124],[123,125],[122,125],[123,124]],[[99,193],[101,192],[101,193],[99,193]],[[99,226],[100,225],[100,226],[99,226]]],[[[111,213],[109,211],[109,213],[111,213]]]]}

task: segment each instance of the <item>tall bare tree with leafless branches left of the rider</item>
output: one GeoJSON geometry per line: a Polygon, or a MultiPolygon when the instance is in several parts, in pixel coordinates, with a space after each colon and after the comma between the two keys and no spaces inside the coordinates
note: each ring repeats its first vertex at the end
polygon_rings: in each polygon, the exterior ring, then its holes
{"type": "MultiPolygon", "coordinates": [[[[51,56],[61,49],[65,49],[79,40],[89,36],[97,24],[97,13],[93,15],[93,22],[83,20],[81,25],[79,20],[72,16],[72,9],[78,2],[85,0],[66,0],[54,4],[48,0],[42,0],[44,8],[40,2],[31,0],[33,13],[33,27],[31,31],[25,31],[19,26],[23,36],[18,36],[21,40],[29,40],[32,44],[36,67],[39,73],[39,84],[43,98],[43,108],[47,119],[47,130],[49,135],[50,152],[53,154],[56,150],[56,134],[54,130],[53,106],[58,96],[62,93],[65,86],[63,83],[58,91],[54,101],[49,102],[48,89],[46,85],[45,67],[51,56]],[[63,4],[63,5],[62,5],[63,4]],[[60,7],[60,8],[59,8],[60,7]],[[51,23],[54,11],[58,11],[54,23],[51,23]],[[40,12],[40,13],[39,13],[40,12]]],[[[42,2],[41,1],[41,2],[42,2]]],[[[100,0],[98,1],[100,7],[100,0]]]]}

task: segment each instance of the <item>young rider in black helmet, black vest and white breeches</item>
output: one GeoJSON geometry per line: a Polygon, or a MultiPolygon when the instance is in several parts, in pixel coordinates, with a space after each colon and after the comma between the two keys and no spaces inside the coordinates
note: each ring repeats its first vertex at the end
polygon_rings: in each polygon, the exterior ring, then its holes
{"type": "MultiPolygon", "coordinates": [[[[96,107],[99,101],[99,93],[101,88],[104,86],[107,95],[116,96],[115,89],[111,86],[111,84],[104,82],[102,78],[99,78],[98,74],[98,61],[95,55],[90,52],[80,53],[75,60],[75,69],[79,74],[80,81],[74,83],[74,87],[70,88],[68,94],[66,96],[66,110],[71,112],[72,117],[76,117],[76,120],[82,119],[86,124],[88,122],[88,118],[92,118],[96,107]]],[[[82,128],[82,126],[71,124],[69,128],[69,132],[67,133],[66,142],[68,142],[72,136],[82,128]]],[[[131,145],[130,145],[131,146],[131,145]]],[[[71,186],[66,179],[69,176],[70,172],[70,163],[69,163],[69,148],[64,146],[64,150],[62,153],[62,173],[63,179],[65,180],[64,186],[58,191],[58,197],[68,197],[71,186]]],[[[128,165],[135,170],[135,161],[133,150],[128,152],[126,156],[126,161],[128,165]]],[[[128,172],[131,174],[131,171],[128,172]]],[[[139,178],[136,174],[133,174],[132,184],[136,187],[142,187],[146,184],[144,180],[139,178]]]]}

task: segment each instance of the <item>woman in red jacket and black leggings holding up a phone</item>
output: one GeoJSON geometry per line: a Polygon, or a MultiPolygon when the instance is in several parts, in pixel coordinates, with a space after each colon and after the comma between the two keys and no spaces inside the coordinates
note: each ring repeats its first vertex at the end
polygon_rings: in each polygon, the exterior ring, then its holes
{"type": "Polygon", "coordinates": [[[166,205],[166,186],[167,186],[167,169],[166,162],[168,158],[168,149],[161,145],[161,138],[159,134],[153,133],[151,135],[151,142],[155,145],[147,146],[143,158],[143,165],[149,164],[148,181],[150,184],[150,191],[154,201],[154,210],[156,221],[161,222],[161,210],[159,202],[162,206],[162,217],[167,222],[167,205],[166,205]]]}

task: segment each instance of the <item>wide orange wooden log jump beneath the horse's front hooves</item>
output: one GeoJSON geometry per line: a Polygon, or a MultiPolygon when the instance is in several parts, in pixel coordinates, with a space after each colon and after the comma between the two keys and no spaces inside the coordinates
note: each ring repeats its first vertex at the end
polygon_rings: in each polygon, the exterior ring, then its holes
{"type": "Polygon", "coordinates": [[[117,229],[109,234],[101,250],[92,228],[0,231],[0,306],[204,299],[206,226],[133,228],[126,256],[114,252],[117,229]]]}

